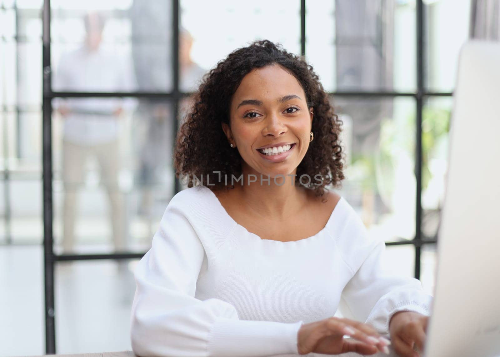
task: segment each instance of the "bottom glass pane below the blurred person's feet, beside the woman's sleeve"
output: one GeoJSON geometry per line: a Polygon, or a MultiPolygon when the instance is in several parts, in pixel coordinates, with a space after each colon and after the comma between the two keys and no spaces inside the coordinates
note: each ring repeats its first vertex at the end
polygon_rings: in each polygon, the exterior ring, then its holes
{"type": "Polygon", "coordinates": [[[59,262],[55,341],[60,354],[131,350],[130,311],[138,260],[59,262]]]}

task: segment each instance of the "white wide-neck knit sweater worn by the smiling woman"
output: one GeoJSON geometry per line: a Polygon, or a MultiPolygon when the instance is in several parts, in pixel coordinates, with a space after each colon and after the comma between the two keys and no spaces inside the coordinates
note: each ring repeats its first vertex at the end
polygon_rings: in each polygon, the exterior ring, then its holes
{"type": "Polygon", "coordinates": [[[417,279],[387,274],[384,249],[343,197],[317,234],[282,242],[237,224],[207,187],[184,189],[136,266],[132,349],[141,356],[295,355],[300,325],[337,308],[388,337],[395,312],[429,315],[432,296],[417,279]]]}

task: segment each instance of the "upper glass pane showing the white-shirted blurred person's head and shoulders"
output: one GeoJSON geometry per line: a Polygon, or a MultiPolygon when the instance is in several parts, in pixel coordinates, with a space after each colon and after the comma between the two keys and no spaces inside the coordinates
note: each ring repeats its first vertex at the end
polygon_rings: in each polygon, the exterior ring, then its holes
{"type": "Polygon", "coordinates": [[[56,91],[171,89],[171,2],[52,1],[56,91]],[[87,23],[87,25],[85,25],[87,23]]]}

